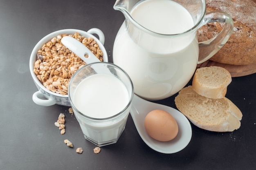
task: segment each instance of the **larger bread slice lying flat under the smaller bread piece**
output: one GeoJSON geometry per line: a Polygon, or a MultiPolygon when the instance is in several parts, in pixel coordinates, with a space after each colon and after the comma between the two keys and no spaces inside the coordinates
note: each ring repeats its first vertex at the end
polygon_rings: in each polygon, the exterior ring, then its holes
{"type": "Polygon", "coordinates": [[[210,99],[198,95],[192,86],[188,86],[175,97],[175,104],[199,128],[214,132],[232,132],[240,128],[243,115],[226,97],[210,99]]]}

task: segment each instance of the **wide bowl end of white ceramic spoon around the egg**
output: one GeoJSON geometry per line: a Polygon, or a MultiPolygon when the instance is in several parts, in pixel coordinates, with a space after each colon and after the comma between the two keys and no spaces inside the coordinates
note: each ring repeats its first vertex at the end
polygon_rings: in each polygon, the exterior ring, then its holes
{"type": "Polygon", "coordinates": [[[174,108],[149,102],[147,100],[141,99],[137,95],[134,95],[130,114],[142,140],[150,148],[156,150],[157,152],[166,154],[179,152],[180,150],[184,149],[191,140],[192,128],[189,120],[180,111],[174,108]],[[166,112],[170,113],[177,121],[179,131],[173,140],[164,142],[157,141],[147,134],[144,128],[144,119],[150,111],[155,109],[165,110],[166,112]]]}

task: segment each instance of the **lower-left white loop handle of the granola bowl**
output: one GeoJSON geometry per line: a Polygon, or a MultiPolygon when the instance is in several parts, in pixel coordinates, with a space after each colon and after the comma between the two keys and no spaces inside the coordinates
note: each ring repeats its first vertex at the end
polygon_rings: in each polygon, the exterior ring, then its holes
{"type": "Polygon", "coordinates": [[[35,92],[32,96],[32,99],[35,102],[35,104],[41,106],[52,106],[56,104],[56,102],[53,99],[45,97],[45,95],[43,95],[43,93],[41,93],[40,91],[35,92]]]}

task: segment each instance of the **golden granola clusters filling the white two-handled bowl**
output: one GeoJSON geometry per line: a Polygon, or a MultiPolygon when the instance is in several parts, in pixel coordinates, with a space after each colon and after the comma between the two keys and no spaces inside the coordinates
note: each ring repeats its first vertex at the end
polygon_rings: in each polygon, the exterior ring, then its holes
{"type": "Polygon", "coordinates": [[[86,63],[61,43],[63,36],[71,36],[82,42],[100,61],[103,61],[103,53],[93,38],[85,38],[79,33],[58,35],[43,44],[37,52],[34,73],[49,91],[67,95],[70,78],[86,63]]]}

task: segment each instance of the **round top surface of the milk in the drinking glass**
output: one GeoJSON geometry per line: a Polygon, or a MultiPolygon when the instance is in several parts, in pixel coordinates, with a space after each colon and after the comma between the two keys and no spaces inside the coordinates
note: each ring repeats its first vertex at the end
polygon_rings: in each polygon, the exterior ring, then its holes
{"type": "Polygon", "coordinates": [[[96,74],[83,79],[74,91],[74,106],[82,114],[103,119],[121,112],[129,102],[125,85],[116,77],[96,74]]]}

